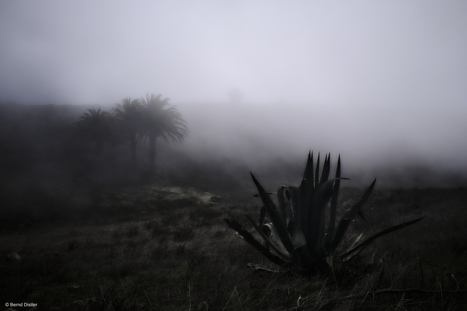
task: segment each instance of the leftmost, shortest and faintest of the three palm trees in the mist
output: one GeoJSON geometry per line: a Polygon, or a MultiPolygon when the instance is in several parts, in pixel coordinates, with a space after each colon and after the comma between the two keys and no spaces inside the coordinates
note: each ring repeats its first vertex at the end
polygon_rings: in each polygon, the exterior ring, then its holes
{"type": "Polygon", "coordinates": [[[96,144],[96,153],[102,154],[104,143],[115,145],[119,141],[116,131],[115,118],[107,111],[87,109],[81,120],[74,123],[76,131],[81,138],[92,140],[96,144]]]}

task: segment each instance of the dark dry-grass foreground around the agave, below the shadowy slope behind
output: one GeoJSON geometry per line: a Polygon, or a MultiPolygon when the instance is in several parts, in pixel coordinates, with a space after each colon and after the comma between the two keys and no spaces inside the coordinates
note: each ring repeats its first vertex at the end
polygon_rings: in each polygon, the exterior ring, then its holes
{"type": "MultiPolygon", "coordinates": [[[[341,188],[340,211],[362,191],[341,188]]],[[[235,204],[191,188],[115,188],[102,194],[91,220],[3,226],[0,303],[83,311],[466,310],[466,200],[464,187],[375,190],[362,209],[368,222],[357,219],[348,235],[425,219],[380,238],[334,273],[307,277],[248,267],[278,268],[223,218],[253,232],[243,214],[258,217],[259,199],[235,204]],[[432,291],[378,292],[388,288],[432,291]]]]}

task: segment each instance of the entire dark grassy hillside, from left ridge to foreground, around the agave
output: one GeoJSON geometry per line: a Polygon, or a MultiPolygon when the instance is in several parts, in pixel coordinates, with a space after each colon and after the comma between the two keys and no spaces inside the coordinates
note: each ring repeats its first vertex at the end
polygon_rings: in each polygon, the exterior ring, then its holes
{"type": "MultiPolygon", "coordinates": [[[[128,164],[126,145],[96,157],[71,131],[85,108],[0,106],[4,302],[37,303],[38,310],[467,307],[466,187],[375,189],[362,208],[368,221],[358,218],[348,236],[425,218],[349,263],[304,276],[269,263],[223,220],[254,232],[243,215],[257,219],[261,207],[250,168],[195,161],[163,144],[155,175],[147,173],[144,146],[137,167],[128,164]]],[[[258,168],[268,191],[302,173],[301,164],[281,164],[258,168]]],[[[363,191],[341,187],[338,214],[363,191]]]]}

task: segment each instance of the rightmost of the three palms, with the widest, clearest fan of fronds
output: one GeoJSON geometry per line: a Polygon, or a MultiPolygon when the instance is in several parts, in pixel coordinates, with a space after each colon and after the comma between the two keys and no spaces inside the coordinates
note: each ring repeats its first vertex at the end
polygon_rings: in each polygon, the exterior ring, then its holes
{"type": "Polygon", "coordinates": [[[161,100],[161,94],[155,96],[146,94],[147,100],[141,98],[144,107],[144,135],[149,137],[149,168],[156,169],[156,139],[168,142],[178,140],[180,143],[188,137],[188,127],[177,111],[176,106],[164,109],[169,104],[169,98],[161,100]]]}

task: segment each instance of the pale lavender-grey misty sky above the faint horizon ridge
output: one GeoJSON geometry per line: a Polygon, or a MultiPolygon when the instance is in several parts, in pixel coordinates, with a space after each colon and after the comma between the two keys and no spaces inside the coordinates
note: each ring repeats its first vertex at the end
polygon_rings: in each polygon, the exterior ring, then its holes
{"type": "Polygon", "coordinates": [[[0,100],[464,105],[465,1],[1,1],[0,100]]]}

